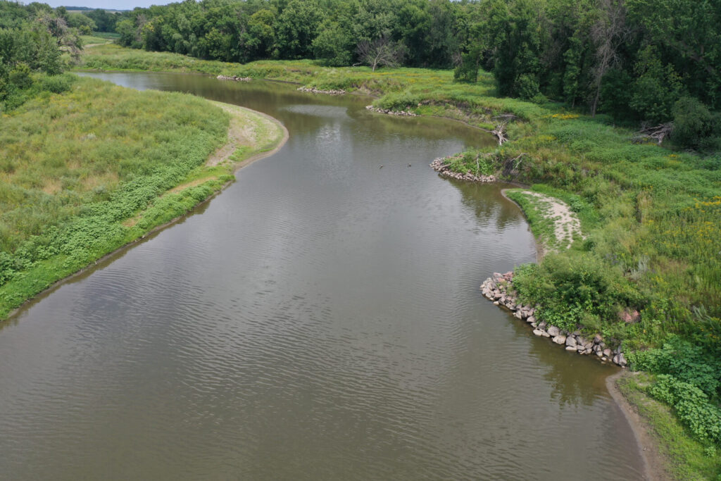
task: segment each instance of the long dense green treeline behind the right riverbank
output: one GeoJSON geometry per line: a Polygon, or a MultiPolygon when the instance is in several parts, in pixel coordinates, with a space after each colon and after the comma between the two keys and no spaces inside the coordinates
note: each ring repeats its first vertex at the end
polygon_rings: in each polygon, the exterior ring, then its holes
{"type": "Polygon", "coordinates": [[[717,1],[187,0],[123,16],[125,46],[242,63],[455,67],[463,81],[482,68],[500,96],[674,121],[678,144],[719,147],[717,1]]]}

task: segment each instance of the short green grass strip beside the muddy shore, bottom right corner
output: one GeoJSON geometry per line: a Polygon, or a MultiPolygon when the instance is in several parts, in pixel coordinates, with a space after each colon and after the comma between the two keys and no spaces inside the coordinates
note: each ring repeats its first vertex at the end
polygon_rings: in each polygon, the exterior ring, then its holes
{"type": "Polygon", "coordinates": [[[658,451],[667,460],[669,474],[678,480],[720,479],[721,449],[695,441],[668,406],[649,397],[647,390],[653,381],[650,374],[627,375],[618,379],[616,386],[645,421],[658,451]]]}

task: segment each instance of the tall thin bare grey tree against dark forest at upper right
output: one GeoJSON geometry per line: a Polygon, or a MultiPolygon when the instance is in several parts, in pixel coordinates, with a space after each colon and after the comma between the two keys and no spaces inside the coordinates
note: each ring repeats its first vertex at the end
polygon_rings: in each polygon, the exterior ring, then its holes
{"type": "Polygon", "coordinates": [[[596,116],[601,98],[601,80],[609,69],[619,63],[619,46],[627,40],[631,30],[626,25],[626,6],[622,0],[600,0],[601,12],[590,29],[590,37],[596,44],[596,66],[593,69],[593,100],[590,115],[596,116]]]}

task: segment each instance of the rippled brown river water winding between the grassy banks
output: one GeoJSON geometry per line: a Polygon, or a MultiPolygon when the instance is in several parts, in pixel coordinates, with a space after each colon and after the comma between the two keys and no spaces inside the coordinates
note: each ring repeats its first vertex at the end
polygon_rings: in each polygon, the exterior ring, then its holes
{"type": "Polygon", "coordinates": [[[642,477],[616,369],[479,292],[534,239],[503,185],[428,164],[492,138],[286,84],[90,75],[260,110],[290,138],[0,325],[0,478],[642,477]]]}

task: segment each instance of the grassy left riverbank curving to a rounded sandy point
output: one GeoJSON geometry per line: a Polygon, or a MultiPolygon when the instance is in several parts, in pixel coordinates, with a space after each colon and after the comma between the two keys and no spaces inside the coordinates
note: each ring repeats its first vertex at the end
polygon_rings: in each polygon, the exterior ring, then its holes
{"type": "Polygon", "coordinates": [[[283,137],[249,110],[94,79],[28,101],[0,126],[0,319],[186,213],[232,180],[237,162],[283,137]],[[206,166],[234,124],[244,136],[206,166]]]}

